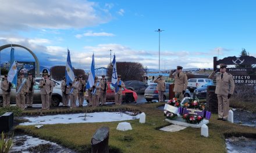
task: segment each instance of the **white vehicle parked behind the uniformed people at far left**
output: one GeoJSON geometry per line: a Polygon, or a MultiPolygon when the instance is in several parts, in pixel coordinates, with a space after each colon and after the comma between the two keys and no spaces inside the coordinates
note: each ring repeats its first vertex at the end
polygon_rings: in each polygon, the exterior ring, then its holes
{"type": "MultiPolygon", "coordinates": [[[[1,83],[0,83],[1,86],[1,83]]],[[[41,104],[41,94],[40,94],[40,88],[39,88],[39,82],[35,82],[34,88],[34,94],[33,94],[33,104],[41,104]]],[[[61,89],[58,88],[58,86],[54,88],[52,92],[52,106],[58,106],[59,103],[62,102],[62,92],[61,89]]],[[[13,85],[12,89],[10,90],[10,104],[16,104],[16,86],[13,85]]],[[[0,105],[3,105],[3,97],[2,97],[2,89],[0,89],[0,105]]]]}

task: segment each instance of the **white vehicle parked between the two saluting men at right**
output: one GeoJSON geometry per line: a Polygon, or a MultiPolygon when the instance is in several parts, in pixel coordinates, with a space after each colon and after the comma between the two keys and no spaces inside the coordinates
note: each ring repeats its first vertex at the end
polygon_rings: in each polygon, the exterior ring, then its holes
{"type": "Polygon", "coordinates": [[[189,79],[187,81],[187,89],[190,90],[190,92],[194,92],[195,89],[198,87],[201,87],[202,85],[205,85],[206,83],[212,82],[212,79],[206,79],[206,78],[193,78],[189,79]]]}

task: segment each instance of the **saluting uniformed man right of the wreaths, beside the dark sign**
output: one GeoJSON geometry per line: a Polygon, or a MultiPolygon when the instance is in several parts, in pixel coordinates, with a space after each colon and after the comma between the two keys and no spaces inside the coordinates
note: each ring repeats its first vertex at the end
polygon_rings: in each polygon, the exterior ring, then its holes
{"type": "Polygon", "coordinates": [[[218,97],[218,120],[227,121],[227,116],[229,115],[229,98],[234,92],[234,80],[233,76],[226,72],[226,64],[219,64],[219,67],[221,69],[212,72],[209,78],[216,78],[215,93],[218,97]]]}

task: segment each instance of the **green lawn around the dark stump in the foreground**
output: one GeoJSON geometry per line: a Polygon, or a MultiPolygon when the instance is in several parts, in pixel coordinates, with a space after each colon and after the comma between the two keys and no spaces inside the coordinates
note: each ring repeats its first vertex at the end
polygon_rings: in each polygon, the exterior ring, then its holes
{"type": "Polygon", "coordinates": [[[44,125],[41,129],[34,126],[17,126],[16,132],[24,132],[54,141],[79,152],[90,152],[90,141],[95,130],[108,126],[110,152],[226,152],[225,136],[245,134],[256,137],[255,128],[217,121],[218,116],[212,115],[209,137],[200,136],[201,129],[186,128],[179,132],[163,132],[159,127],[169,125],[165,121],[163,111],[157,107],[163,103],[130,105],[145,112],[146,123],[138,119],[127,121],[133,130],[120,132],[116,130],[119,122],[73,123],[44,125]]]}

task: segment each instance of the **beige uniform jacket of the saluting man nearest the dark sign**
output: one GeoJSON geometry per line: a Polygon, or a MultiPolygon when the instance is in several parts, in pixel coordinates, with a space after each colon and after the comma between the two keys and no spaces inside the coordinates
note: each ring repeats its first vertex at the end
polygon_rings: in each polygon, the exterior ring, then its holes
{"type": "Polygon", "coordinates": [[[209,75],[209,79],[216,78],[216,89],[215,93],[223,96],[228,94],[233,94],[234,92],[234,79],[232,74],[225,72],[223,78],[221,79],[221,73],[212,72],[209,75]]]}

